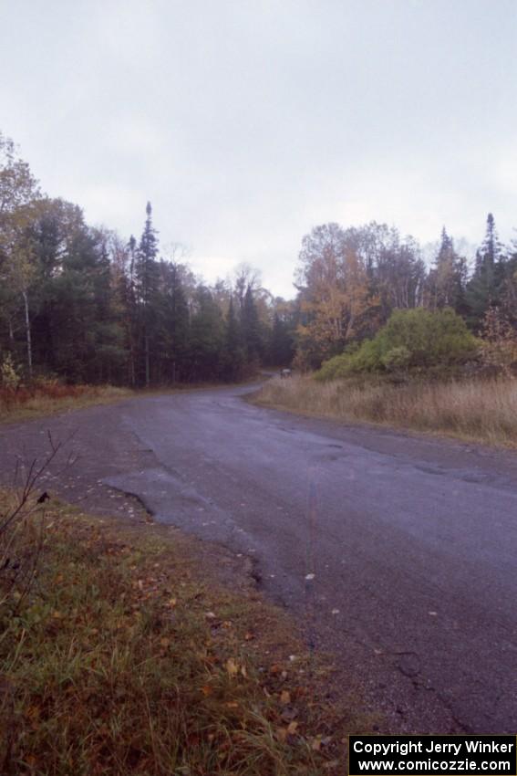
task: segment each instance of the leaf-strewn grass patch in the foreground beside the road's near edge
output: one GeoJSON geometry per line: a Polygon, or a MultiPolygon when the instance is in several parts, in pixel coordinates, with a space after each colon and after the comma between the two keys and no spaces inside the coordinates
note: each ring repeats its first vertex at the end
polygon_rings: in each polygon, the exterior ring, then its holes
{"type": "MultiPolygon", "coordinates": [[[[0,493],[0,516],[12,498],[0,493]]],[[[203,577],[163,527],[42,510],[20,522],[0,572],[3,774],[344,772],[328,668],[285,613],[203,577]],[[40,530],[36,580],[20,592],[9,570],[40,530]]]]}

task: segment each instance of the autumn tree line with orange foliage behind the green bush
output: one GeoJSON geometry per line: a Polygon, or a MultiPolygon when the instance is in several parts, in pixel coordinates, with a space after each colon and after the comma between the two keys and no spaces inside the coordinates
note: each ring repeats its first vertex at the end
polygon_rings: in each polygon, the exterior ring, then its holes
{"type": "Polygon", "coordinates": [[[476,335],[488,324],[517,330],[517,245],[501,244],[491,214],[473,267],[445,228],[429,267],[414,238],[385,224],[316,226],[304,237],[296,282],[302,368],[372,340],[399,309],[452,309],[476,335]]]}

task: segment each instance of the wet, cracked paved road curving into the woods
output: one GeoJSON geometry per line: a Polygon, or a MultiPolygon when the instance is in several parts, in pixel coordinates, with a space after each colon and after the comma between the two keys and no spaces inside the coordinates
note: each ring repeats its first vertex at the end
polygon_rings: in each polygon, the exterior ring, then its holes
{"type": "Polygon", "coordinates": [[[254,557],[265,592],[337,655],[334,691],[357,682],[383,731],[514,733],[517,456],[272,412],[249,390],[4,426],[0,468],[42,455],[51,430],[75,460],[49,487],[111,511],[135,494],[254,557]]]}

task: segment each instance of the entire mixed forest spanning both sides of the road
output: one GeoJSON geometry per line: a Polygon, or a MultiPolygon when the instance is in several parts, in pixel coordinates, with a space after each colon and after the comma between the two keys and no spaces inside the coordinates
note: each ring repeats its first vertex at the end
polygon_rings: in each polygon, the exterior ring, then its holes
{"type": "MultiPolygon", "coordinates": [[[[260,273],[196,278],[179,244],[160,248],[151,204],[123,238],[80,205],[44,194],[0,135],[0,368],[7,387],[37,380],[149,387],[232,382],[260,365],[301,372],[374,340],[397,310],[451,309],[477,337],[512,341],[517,245],[489,214],[469,265],[444,227],[432,261],[395,227],[318,225],[302,240],[296,297],[260,273]],[[141,231],[139,231],[141,229],[141,231]]],[[[398,353],[400,357],[400,353],[398,353]]]]}

